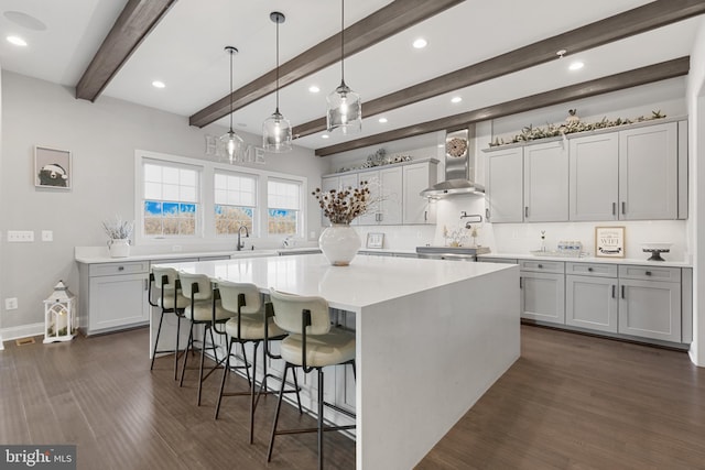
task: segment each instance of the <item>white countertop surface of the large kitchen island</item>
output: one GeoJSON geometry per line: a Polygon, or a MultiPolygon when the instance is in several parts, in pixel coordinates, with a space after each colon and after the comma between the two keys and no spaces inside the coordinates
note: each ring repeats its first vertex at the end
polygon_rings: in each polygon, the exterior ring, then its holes
{"type": "Polygon", "coordinates": [[[443,285],[510,269],[492,263],[456,263],[393,256],[361,256],[349,266],[332,266],[323,254],[169,263],[210,278],[253,283],[299,295],[325,297],[332,307],[360,308],[443,285]]]}

